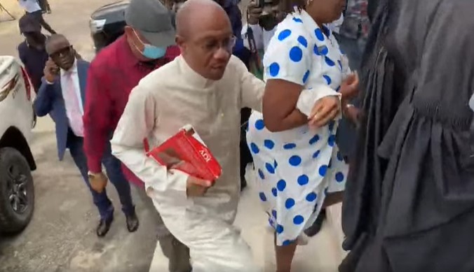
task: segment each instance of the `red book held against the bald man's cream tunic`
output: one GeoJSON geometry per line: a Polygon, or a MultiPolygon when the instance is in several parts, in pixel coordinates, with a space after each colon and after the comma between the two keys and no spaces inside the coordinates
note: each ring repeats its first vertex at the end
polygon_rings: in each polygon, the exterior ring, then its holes
{"type": "MultiPolygon", "coordinates": [[[[145,143],[147,150],[147,143],[145,143]]],[[[191,125],[186,125],[158,147],[147,152],[159,164],[190,176],[214,182],[222,167],[191,125]]]]}

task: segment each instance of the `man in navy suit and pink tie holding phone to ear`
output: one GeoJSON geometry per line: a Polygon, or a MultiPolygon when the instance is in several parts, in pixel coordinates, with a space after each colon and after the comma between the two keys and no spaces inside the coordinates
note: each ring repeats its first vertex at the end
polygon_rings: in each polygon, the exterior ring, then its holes
{"type": "MultiPolygon", "coordinates": [[[[48,39],[46,52],[50,59],[46,62],[41,87],[34,101],[34,110],[36,115],[50,114],[53,118],[56,124],[57,155],[62,160],[65,150],[69,149],[93,195],[95,206],[99,209],[97,236],[104,236],[114,219],[114,206],[105,189],[90,185],[86,156],[83,152],[82,117],[89,63],[76,59],[72,45],[62,35],[53,35],[48,39]]],[[[102,164],[117,189],[123,213],[126,215],[128,231],[136,231],[139,222],[135,215],[130,185],[121,171],[121,162],[111,155],[110,144],[104,151],[102,164]]]]}

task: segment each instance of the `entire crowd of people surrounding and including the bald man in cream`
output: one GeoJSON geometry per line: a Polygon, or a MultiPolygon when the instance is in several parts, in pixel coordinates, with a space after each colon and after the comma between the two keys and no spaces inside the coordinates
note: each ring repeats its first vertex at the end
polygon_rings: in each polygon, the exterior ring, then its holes
{"type": "Polygon", "coordinates": [[[89,63],[19,1],[34,110],[88,186],[97,236],[114,220],[108,180],[139,228],[132,184],[169,271],[260,271],[233,226],[248,169],[277,272],[331,208],[341,272],[474,271],[473,3],[252,1],[243,20],[235,0],[131,0],[123,36],[89,63]],[[187,124],[218,180],[147,156],[187,124]]]}

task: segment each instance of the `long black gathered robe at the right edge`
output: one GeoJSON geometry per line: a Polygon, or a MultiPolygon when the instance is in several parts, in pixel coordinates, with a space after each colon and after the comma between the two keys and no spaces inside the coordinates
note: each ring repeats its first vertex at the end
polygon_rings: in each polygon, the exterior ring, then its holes
{"type": "Polygon", "coordinates": [[[473,272],[473,0],[380,0],[341,272],[473,272]]]}

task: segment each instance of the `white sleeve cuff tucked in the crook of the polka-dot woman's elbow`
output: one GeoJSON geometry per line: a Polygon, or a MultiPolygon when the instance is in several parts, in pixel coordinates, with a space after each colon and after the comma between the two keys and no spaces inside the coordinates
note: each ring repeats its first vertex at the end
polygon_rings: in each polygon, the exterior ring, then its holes
{"type": "Polygon", "coordinates": [[[331,87],[323,84],[316,85],[312,89],[302,90],[297,101],[297,109],[304,115],[309,116],[316,101],[322,99],[325,96],[331,95],[339,96],[339,99],[341,98],[341,94],[339,94],[339,92],[336,92],[332,90],[331,87]]]}

